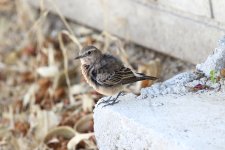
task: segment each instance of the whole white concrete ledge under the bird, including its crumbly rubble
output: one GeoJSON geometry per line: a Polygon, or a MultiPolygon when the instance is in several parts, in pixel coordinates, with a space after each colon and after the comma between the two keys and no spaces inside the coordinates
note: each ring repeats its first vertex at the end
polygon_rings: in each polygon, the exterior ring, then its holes
{"type": "MultiPolygon", "coordinates": [[[[120,102],[94,110],[94,130],[101,150],[225,149],[225,79],[214,83],[210,71],[225,67],[225,37],[198,72],[128,94],[120,102]]],[[[100,100],[102,101],[102,100],[100,100]]]]}

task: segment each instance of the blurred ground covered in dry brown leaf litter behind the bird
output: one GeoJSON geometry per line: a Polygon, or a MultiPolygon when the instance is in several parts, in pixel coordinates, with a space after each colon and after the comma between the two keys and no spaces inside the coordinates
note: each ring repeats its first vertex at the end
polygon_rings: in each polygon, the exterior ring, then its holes
{"type": "MultiPolygon", "coordinates": [[[[95,45],[135,71],[164,81],[194,65],[107,32],[35,10],[20,0],[0,1],[0,150],[97,149],[92,112],[102,95],[90,88],[73,58],[95,45]],[[74,140],[73,140],[74,141],[74,140]]],[[[136,94],[150,86],[139,82],[136,94]]]]}

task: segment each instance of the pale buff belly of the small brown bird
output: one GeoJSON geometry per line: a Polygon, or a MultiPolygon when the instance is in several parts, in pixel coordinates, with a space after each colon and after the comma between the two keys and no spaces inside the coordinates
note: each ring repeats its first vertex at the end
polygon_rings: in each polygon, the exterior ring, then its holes
{"type": "Polygon", "coordinates": [[[113,87],[102,87],[102,86],[96,86],[94,82],[91,81],[91,79],[87,76],[86,69],[81,66],[81,71],[84,76],[84,79],[87,81],[87,83],[92,86],[98,93],[101,93],[106,96],[112,96],[115,95],[123,90],[123,86],[113,86],[113,87]]]}

